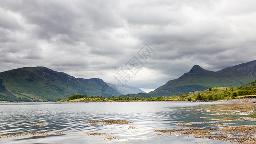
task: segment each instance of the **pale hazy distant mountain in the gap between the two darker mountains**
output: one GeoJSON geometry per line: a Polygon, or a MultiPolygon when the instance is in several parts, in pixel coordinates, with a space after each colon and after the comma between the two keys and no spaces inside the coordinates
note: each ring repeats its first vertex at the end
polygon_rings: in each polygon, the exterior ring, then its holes
{"type": "Polygon", "coordinates": [[[129,85],[110,84],[110,83],[107,83],[107,84],[113,89],[119,91],[122,95],[145,93],[141,89],[137,87],[129,86],[129,85]]]}

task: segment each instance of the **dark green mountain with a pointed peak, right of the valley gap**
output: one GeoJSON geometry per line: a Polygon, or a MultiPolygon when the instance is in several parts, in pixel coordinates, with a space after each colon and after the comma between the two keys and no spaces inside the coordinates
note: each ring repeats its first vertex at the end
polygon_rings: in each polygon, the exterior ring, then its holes
{"type": "Polygon", "coordinates": [[[238,87],[256,80],[256,60],[224,68],[218,72],[207,71],[199,65],[178,79],[168,81],[149,96],[172,96],[188,94],[193,90],[203,91],[210,87],[238,87]]]}

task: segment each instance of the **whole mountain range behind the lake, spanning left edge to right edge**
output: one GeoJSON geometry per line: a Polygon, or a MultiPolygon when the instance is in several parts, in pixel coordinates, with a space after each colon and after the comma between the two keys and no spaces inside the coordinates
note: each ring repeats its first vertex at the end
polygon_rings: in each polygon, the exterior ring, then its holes
{"type": "Polygon", "coordinates": [[[139,96],[172,96],[203,91],[210,87],[238,87],[255,80],[256,60],[218,72],[194,65],[181,77],[143,94],[138,88],[107,84],[99,78],[75,78],[46,67],[24,67],[0,72],[0,101],[56,101],[59,97],[67,98],[74,94],[105,97],[132,93],[139,93],[139,96]]]}

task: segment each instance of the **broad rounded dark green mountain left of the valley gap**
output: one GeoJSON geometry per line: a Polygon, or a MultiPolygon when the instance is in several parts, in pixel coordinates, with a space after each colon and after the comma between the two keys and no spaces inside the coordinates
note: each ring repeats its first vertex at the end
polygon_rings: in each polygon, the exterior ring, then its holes
{"type": "Polygon", "coordinates": [[[46,67],[0,72],[0,100],[3,101],[56,101],[74,94],[109,97],[112,93],[122,95],[101,79],[75,78],[46,67]]]}

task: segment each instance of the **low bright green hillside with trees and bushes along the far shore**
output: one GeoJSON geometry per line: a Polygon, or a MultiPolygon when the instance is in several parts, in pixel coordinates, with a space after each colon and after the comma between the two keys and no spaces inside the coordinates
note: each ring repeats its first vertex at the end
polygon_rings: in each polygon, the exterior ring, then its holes
{"type": "Polygon", "coordinates": [[[254,86],[248,88],[248,85],[255,84],[252,82],[249,84],[243,85],[246,86],[245,89],[233,88],[233,87],[213,87],[206,89],[200,92],[193,92],[186,95],[173,95],[173,96],[157,96],[149,97],[146,93],[139,94],[127,94],[122,96],[112,96],[112,97],[103,97],[103,96],[85,96],[85,95],[73,95],[69,96],[67,99],[59,100],[59,102],[112,102],[112,101],[176,101],[176,100],[195,100],[195,101],[211,101],[211,100],[228,100],[235,98],[256,98],[256,87],[254,86]]]}

